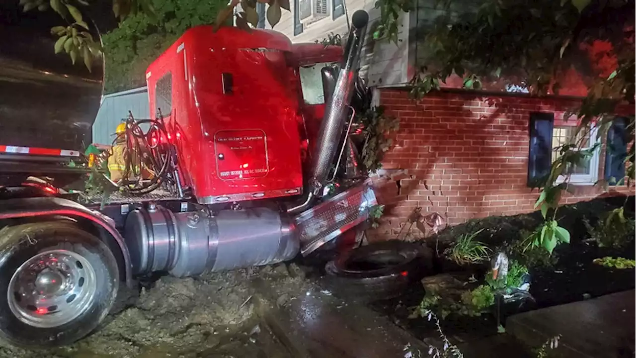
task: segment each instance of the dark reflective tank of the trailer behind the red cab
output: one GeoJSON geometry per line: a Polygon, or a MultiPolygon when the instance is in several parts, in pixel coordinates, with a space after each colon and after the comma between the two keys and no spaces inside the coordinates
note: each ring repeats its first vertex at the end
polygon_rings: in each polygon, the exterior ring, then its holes
{"type": "MultiPolygon", "coordinates": [[[[92,27],[93,38],[99,32],[92,27]]],[[[0,145],[83,150],[99,110],[104,61],[92,72],[55,54],[51,27],[66,21],[52,10],[26,13],[0,1],[0,145]]]]}

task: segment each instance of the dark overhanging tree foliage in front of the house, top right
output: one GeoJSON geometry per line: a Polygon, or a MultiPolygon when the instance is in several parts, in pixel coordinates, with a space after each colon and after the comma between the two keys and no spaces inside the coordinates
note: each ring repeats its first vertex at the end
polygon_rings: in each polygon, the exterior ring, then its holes
{"type": "MultiPolygon", "coordinates": [[[[481,89],[483,83],[516,85],[532,94],[558,94],[561,83],[574,69],[586,76],[588,95],[574,111],[577,133],[557,148],[551,171],[537,187],[543,188],[536,208],[546,223],[531,235],[526,248],[543,247],[552,252],[558,243],[569,242],[569,233],[556,224],[556,211],[563,190],[569,190],[573,166],[597,150],[581,150],[582,138],[593,125],[604,133],[619,103],[636,102],[636,3],[628,0],[483,1],[476,8],[457,0],[446,6],[463,13],[440,17],[427,34],[424,52],[429,57],[411,80],[411,94],[421,97],[439,89],[452,75],[464,79],[464,87],[481,89]],[[496,39],[496,41],[494,40],[496,39]],[[598,58],[586,52],[599,41],[609,45],[605,56],[616,59],[616,70],[594,69],[598,58]],[[548,218],[548,212],[551,217],[548,218]]],[[[633,122],[633,118],[630,119],[633,122]]],[[[636,126],[627,126],[626,176],[636,178],[636,126]]],[[[622,182],[622,178],[616,178],[622,182]]]]}

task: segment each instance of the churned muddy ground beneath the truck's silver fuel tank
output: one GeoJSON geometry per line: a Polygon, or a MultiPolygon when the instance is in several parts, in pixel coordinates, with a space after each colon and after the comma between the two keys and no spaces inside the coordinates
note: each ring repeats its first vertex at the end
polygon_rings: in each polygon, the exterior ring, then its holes
{"type": "Polygon", "coordinates": [[[143,288],[138,299],[109,317],[99,331],[71,347],[0,347],[0,357],[287,357],[259,320],[257,282],[271,289],[279,306],[311,287],[298,266],[286,264],[197,278],[164,276],[143,288]]]}

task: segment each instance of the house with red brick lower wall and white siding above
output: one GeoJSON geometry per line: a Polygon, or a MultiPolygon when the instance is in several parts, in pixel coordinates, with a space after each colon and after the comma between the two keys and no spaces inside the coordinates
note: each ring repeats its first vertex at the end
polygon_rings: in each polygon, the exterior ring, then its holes
{"type": "MultiPolygon", "coordinates": [[[[275,29],[293,42],[313,42],[329,32],[344,34],[347,15],[358,9],[367,10],[371,22],[379,17],[374,3],[294,0],[275,29]]],[[[575,110],[586,95],[586,78],[607,76],[616,68],[616,59],[607,55],[611,47],[598,42],[580,48],[581,55],[597,61],[592,73],[582,75],[570,69],[562,80],[561,96],[530,97],[502,83],[485,83],[479,92],[461,90],[462,79],[455,76],[446,81],[443,90],[415,101],[408,96],[408,82],[416,65],[426,62],[428,55],[418,34],[446,13],[435,3],[417,0],[415,10],[401,16],[397,45],[373,41],[368,35],[363,49],[361,74],[377,89],[377,103],[401,123],[395,147],[384,159],[386,175],[401,174],[377,190],[380,202],[386,205],[382,226],[375,231],[382,236],[397,234],[399,224],[417,207],[446,215],[448,224],[534,211],[538,194],[529,182],[549,170],[552,148],[565,143],[576,126],[576,120],[563,119],[564,113],[575,110]]],[[[466,0],[448,11],[456,15],[480,3],[466,0]]],[[[625,106],[617,114],[634,113],[636,108],[625,106]]],[[[602,146],[588,163],[574,169],[570,183],[576,186],[562,203],[627,191],[624,186],[614,186],[605,193],[594,185],[624,175],[624,127],[614,125],[609,140],[616,150],[606,150],[607,138],[596,133],[588,138],[590,145],[600,141],[602,146]]]]}

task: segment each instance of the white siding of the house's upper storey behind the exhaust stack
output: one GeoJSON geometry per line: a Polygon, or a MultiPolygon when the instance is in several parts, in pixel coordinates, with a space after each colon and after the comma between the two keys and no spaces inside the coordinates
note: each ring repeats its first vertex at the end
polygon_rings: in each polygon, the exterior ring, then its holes
{"type": "Polygon", "coordinates": [[[373,8],[375,0],[345,0],[345,15],[335,20],[329,15],[312,24],[305,25],[303,32],[294,36],[294,1],[291,0],[290,3],[291,11],[282,11],[280,22],[273,29],[286,34],[294,43],[315,42],[315,40],[326,38],[331,32],[345,38],[349,31],[347,17],[351,17],[356,10],[368,11],[370,33],[366,36],[366,46],[363,49],[361,73],[366,75],[369,84],[374,86],[403,85],[410,80],[411,57],[414,58],[415,54],[410,54],[409,50],[408,38],[411,17],[408,14],[404,13],[400,19],[401,31],[398,35],[397,45],[386,40],[373,40],[371,29],[373,29],[373,23],[380,17],[380,10],[373,8]]]}

